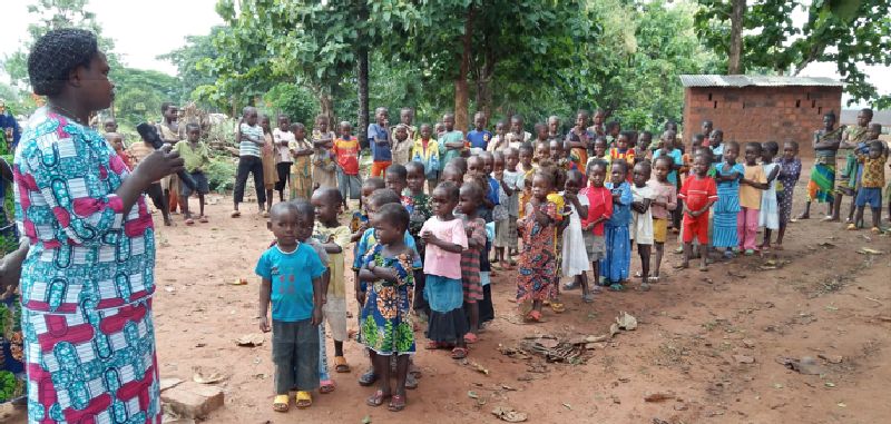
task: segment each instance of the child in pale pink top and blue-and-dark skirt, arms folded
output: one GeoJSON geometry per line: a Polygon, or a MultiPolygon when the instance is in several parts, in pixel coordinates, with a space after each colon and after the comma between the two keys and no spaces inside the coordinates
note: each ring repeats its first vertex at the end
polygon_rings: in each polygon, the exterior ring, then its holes
{"type": "Polygon", "coordinates": [[[421,228],[421,238],[427,246],[424,297],[430,304],[427,348],[454,346],[452,358],[461,359],[467,357],[468,331],[462,307],[461,253],[468,248],[468,240],[463,223],[453,213],[458,199],[459,188],[454,183],[442,181],[437,186],[431,195],[434,215],[421,228]]]}

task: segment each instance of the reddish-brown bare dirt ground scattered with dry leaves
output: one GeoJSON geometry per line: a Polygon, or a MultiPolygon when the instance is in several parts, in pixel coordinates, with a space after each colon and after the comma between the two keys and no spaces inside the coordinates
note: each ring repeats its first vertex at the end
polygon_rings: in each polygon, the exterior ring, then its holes
{"type": "MultiPolygon", "coordinates": [[[[796,210],[809,168],[796,188],[796,210]]],[[[546,322],[537,325],[518,324],[510,302],[513,278],[502,272],[492,283],[498,317],[469,362],[420,349],[415,363],[423,377],[409,392],[405,411],[365,405],[373,390],[360,387],[356,378],[366,359],[360,345],[349,342],[353,372],[333,374],[333,394],[315,395],[309,410],[275,413],[268,336],[261,347],[235,345],[257,332],[253,269],[271,234],[254,214],[228,218],[228,197],[213,198],[210,224],[186,227],[177,217],[177,227],[158,227],[155,297],[161,377],[192,379],[196,366],[228,376],[221,384],[225,407],[207,422],[495,423],[497,406],[527,413],[532,423],[875,423],[891,415],[891,238],[819,219],[791,224],[782,252],[718,262],[706,273],[675,272],[679,257],[667,254],[668,278],[650,292],[604,293],[591,305],[580,302],[579,292],[565,293],[567,312],[546,309],[546,322]],[[231,285],[239,277],[249,284],[231,285]],[[499,351],[526,336],[600,335],[619,312],[637,317],[637,329],[594,345],[584,364],[512,358],[499,351]],[[815,359],[819,374],[777,362],[803,356],[815,359]],[[646,402],[654,392],[672,392],[674,398],[646,402]]],[[[821,217],[823,205],[815,211],[812,216],[821,217]]],[[[675,247],[669,241],[667,250],[675,247]]],[[[631,266],[637,270],[639,260],[631,266]]],[[[352,302],[351,310],[356,313],[352,302]]],[[[351,327],[356,327],[352,319],[351,327]]],[[[422,333],[417,335],[423,342],[422,333]]]]}

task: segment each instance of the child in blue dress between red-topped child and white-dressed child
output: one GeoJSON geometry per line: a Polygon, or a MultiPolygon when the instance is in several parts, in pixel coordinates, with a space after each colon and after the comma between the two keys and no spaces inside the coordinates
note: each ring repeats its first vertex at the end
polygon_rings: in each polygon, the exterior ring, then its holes
{"type": "Polygon", "coordinates": [[[625,177],[628,175],[628,164],[625,160],[617,160],[613,162],[610,170],[610,180],[606,184],[606,188],[613,196],[613,216],[605,225],[606,255],[600,259],[600,276],[609,289],[621,292],[625,289],[623,284],[628,279],[631,262],[631,237],[628,225],[631,221],[634,195],[625,177]]]}

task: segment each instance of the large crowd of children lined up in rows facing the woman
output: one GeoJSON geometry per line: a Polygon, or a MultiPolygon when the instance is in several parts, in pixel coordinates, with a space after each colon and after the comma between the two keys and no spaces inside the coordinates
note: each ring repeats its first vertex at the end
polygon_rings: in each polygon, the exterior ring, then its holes
{"type": "MultiPolygon", "coordinates": [[[[290,179],[292,201],[267,205],[276,241],[256,268],[263,278],[261,328],[273,331],[274,408],[287,411],[292,390],[297,407],[312,403],[310,391],[316,387],[334,390],[323,322],[334,339],[335,371],[350,371],[343,356],[349,336],[343,252],[351,244],[356,339],[370,358],[359,382],[376,383],[366,403],[388,402],[391,411],[403,410],[405,390],[418,385],[411,355],[422,323],[427,349],[447,349],[456,359],[469,354],[495,316],[496,272],[516,275],[519,312],[538,322],[545,306],[565,309],[561,289],[580,287],[586,303],[601,287],[624,290],[633,278],[648,290],[664,279],[672,231],[683,246],[675,268],[688,267],[695,256],[705,270],[709,254],[730,259],[782,248],[801,175],[796,142],[784,142],[782,155],[775,141],[741,149],[705,122],[684,146],[673,124],[654,140],[647,131],[621,131],[603,118],[598,111],[588,126],[580,111],[564,135],[552,117],[532,136],[520,117],[509,127],[499,122],[491,134],[478,114],[474,129],[464,135],[454,129],[451,114],[441,125],[415,130],[411,109],[388,127],[388,111],[379,108],[366,132],[373,164],[360,180],[360,147],[349,122],[333,134],[322,116],[307,141],[303,126],[278,117],[274,146],[287,148],[292,160],[283,152],[277,174],[290,179]],[[342,224],[347,198],[360,206],[342,224]],[[758,228],[764,228],[760,244],[758,228]],[[634,246],[640,270],[633,276],[634,246]]],[[[256,144],[260,137],[252,134],[266,132],[262,125],[261,131],[249,128],[256,121],[256,110],[245,109],[242,142],[256,144]]],[[[237,200],[236,193],[236,206],[237,200]]]]}

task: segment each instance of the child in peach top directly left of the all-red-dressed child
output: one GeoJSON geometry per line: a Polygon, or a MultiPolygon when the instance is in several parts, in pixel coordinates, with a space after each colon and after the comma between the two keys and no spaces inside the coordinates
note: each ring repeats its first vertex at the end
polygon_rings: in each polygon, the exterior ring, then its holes
{"type": "Polygon", "coordinates": [[[668,220],[672,211],[677,208],[677,188],[668,180],[668,174],[674,168],[674,159],[670,156],[659,156],[653,162],[656,178],[649,180],[653,190],[653,201],[649,204],[653,214],[653,244],[656,247],[656,266],[653,267],[653,276],[649,283],[659,282],[659,268],[662,258],[665,255],[665,241],[668,239],[668,220]]]}

